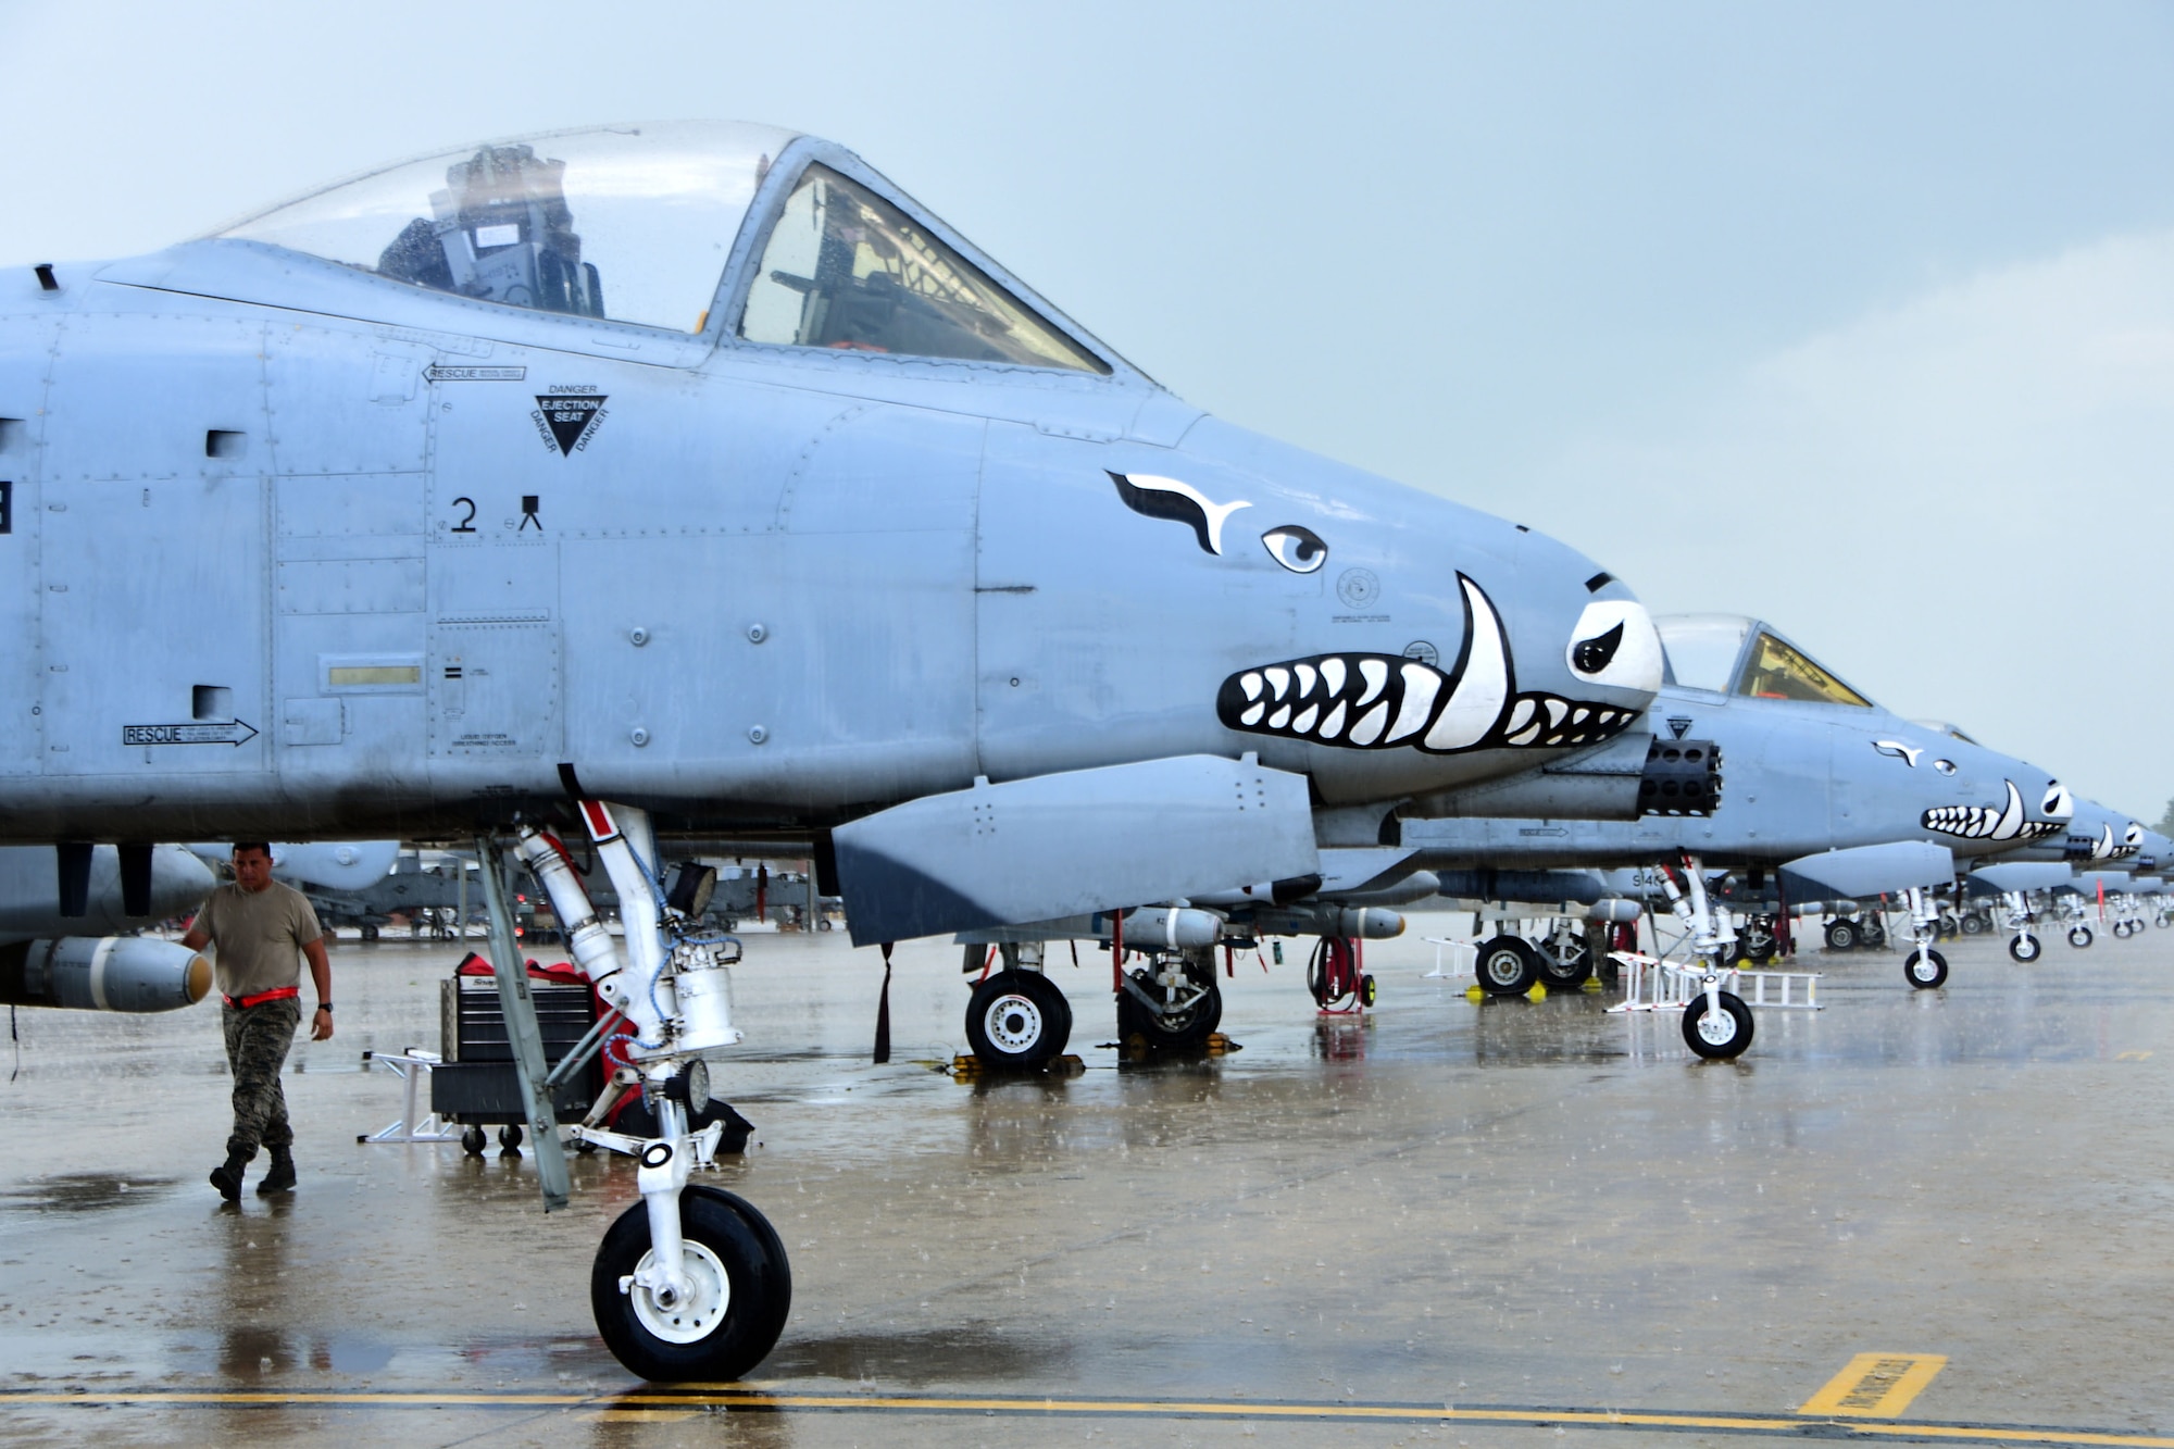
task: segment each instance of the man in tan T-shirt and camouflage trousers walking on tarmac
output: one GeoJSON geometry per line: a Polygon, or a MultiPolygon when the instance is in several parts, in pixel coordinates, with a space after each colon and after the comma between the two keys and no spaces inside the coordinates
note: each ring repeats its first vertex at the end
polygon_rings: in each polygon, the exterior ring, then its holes
{"type": "Polygon", "coordinates": [[[333,1038],[333,964],[324,955],[324,929],[309,896],[272,879],[272,846],[235,846],[235,879],[220,886],[196,914],[180,944],[215,949],[220,994],[226,999],[226,1066],[235,1075],[235,1131],[226,1138],[226,1162],[211,1168],[211,1186],[228,1203],[241,1201],[241,1171],[257,1147],[272,1149],[272,1171],[257,1184],[259,1194],[293,1188],[293,1127],[287,1125],[287,1094],[278,1068],[287,1062],[293,1031],[302,1023],[302,964],[317,986],[317,1012],[309,1040],[333,1038]]]}

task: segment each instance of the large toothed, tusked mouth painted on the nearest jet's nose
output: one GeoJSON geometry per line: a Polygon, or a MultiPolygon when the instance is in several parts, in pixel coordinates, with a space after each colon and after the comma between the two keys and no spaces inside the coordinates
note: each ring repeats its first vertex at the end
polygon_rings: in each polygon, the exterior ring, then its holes
{"type": "Polygon", "coordinates": [[[1463,574],[1465,648],[1441,670],[1402,655],[1335,653],[1233,674],[1215,696],[1228,729],[1344,748],[1413,746],[1433,755],[1498,746],[1594,744],[1637,718],[1591,701],[1517,692],[1509,635],[1463,574]]]}

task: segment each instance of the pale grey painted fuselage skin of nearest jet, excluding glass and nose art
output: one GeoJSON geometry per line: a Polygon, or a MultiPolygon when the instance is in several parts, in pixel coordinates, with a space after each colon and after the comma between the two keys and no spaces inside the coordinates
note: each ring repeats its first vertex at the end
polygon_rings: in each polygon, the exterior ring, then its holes
{"type": "Polygon", "coordinates": [[[1520,694],[1650,703],[1657,674],[1574,668],[1589,609],[1644,620],[1589,559],[1207,418],[850,152],[772,154],[700,333],[239,239],[0,278],[0,835],[452,835],[576,783],[667,831],[807,831],[1248,751],[1324,805],[1394,801],[1574,744],[1507,714],[1450,753],[1274,738],[1217,692],[1328,655],[1454,672],[1461,579],[1520,694]],[[1109,374],[739,339],[815,161],[1109,374]],[[572,442],[537,422],[554,396],[583,398],[572,442]],[[1246,507],[1202,548],[1113,474],[1246,507]],[[1287,529],[1324,566],[1278,557],[1287,529]]]}

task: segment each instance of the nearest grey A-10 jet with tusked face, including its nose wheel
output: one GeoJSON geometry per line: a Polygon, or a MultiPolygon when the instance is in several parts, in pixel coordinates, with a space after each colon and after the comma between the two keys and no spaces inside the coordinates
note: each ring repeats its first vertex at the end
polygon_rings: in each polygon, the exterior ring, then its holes
{"type": "Polygon", "coordinates": [[[659,835],[813,838],[859,942],[1137,907],[1317,872],[1317,814],[1600,744],[1661,683],[1594,561],[1202,416],[850,152],[737,124],[7,274],[0,579],[0,829],[63,883],[87,842],[517,838],[657,1103],[589,1134],[641,1160],[591,1297],[650,1377],[741,1375],[791,1292],[687,1186],[741,1033],[659,835]]]}

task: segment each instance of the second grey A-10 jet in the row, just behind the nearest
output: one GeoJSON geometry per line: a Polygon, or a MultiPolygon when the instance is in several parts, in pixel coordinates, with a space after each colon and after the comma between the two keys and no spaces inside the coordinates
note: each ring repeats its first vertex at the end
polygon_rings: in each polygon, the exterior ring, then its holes
{"type": "MultiPolygon", "coordinates": [[[[2046,770],[1881,709],[1770,624],[1696,614],[1657,629],[1670,677],[1650,733],[1417,801],[1396,822],[1398,844],[1441,877],[1444,894],[1491,894],[1474,879],[1489,868],[1644,868],[1637,894],[1667,899],[1698,955],[1722,959],[1735,927],[1707,899],[1704,866],[1787,870],[1822,894],[1904,896],[1917,940],[1902,975],[1924,990],[1948,977],[1931,890],[1954,883],[1957,862],[1967,870],[2067,829],[2074,798],[2046,770]],[[1650,755],[1676,757],[1681,779],[1654,779],[1650,755]]],[[[1478,953],[1480,983],[1502,994],[1544,966],[1517,938],[1478,953]]],[[[1694,1051],[1748,1044],[1748,1012],[1722,1005],[1685,1012],[1694,1051]]]]}

